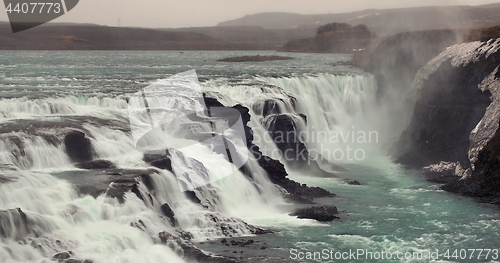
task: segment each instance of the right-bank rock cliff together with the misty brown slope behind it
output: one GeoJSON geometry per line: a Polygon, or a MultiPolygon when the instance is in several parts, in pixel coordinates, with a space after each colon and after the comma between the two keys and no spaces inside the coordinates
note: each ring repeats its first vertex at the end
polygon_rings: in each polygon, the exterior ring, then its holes
{"type": "Polygon", "coordinates": [[[496,204],[499,37],[498,26],[407,32],[379,39],[354,57],[375,75],[379,98],[415,105],[407,107],[412,115],[398,118],[409,124],[392,148],[396,161],[425,168],[447,191],[496,204]]]}

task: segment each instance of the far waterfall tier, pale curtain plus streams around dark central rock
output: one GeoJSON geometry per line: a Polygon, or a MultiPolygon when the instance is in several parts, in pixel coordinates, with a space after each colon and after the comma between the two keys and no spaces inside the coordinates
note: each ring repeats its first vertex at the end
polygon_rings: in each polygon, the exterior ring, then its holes
{"type": "Polygon", "coordinates": [[[329,163],[357,162],[384,153],[387,143],[400,133],[389,128],[394,121],[388,118],[390,108],[377,101],[371,75],[258,77],[255,81],[259,84],[205,86],[217,92],[212,96],[225,105],[242,103],[251,109],[259,120],[251,123],[255,143],[275,159],[283,157],[276,154],[275,145],[282,139],[269,135],[277,123],[292,123],[294,142],[304,143],[313,159],[317,153],[329,163]]]}

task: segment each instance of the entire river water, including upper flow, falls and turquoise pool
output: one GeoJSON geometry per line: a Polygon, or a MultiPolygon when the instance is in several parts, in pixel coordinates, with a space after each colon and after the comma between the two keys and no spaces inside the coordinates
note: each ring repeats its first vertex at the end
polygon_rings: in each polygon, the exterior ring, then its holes
{"type": "MultiPolygon", "coordinates": [[[[453,252],[500,249],[498,211],[445,193],[385,156],[405,121],[389,118],[391,110],[399,109],[377,103],[376,91],[383,87],[376,86],[373,76],[344,65],[350,59],[347,55],[288,54],[295,59],[262,63],[216,61],[252,54],[274,52],[0,52],[0,211],[14,209],[8,210],[10,216],[0,217],[2,227],[9,229],[0,239],[0,262],[50,262],[52,255],[68,250],[75,258],[93,262],[182,262],[157,238],[159,232],[174,229],[172,222],[159,216],[163,203],[175,211],[177,227],[191,232],[196,241],[225,236],[213,216],[232,226],[236,235],[250,234],[243,221],[274,230],[270,238],[277,248],[261,253],[277,255],[276,262],[294,261],[289,258],[294,256],[291,249],[296,249],[293,253],[366,249],[394,255],[439,250],[436,262],[496,262],[494,253],[488,260],[484,255],[478,260],[468,259],[469,252],[462,260],[453,252]],[[255,143],[264,153],[276,152],[265,139],[270,116],[264,105],[270,98],[277,101],[276,111],[292,116],[298,130],[337,136],[335,141],[309,137],[305,144],[310,151],[342,149],[337,155],[323,151],[322,164],[340,164],[347,171],[334,171],[332,177],[290,168],[288,172],[296,181],[336,193],[337,197],[318,202],[345,211],[340,220],[316,223],[288,216],[289,205],[255,160],[249,160],[253,180],[236,172],[196,190],[210,209],[191,202],[168,171],[152,176],[157,191],[151,202],[131,193],[124,204],[105,195],[77,194],[64,178],[80,170],[71,164],[60,134],[85,130],[98,158],[120,168],[150,168],[127,131],[126,98],[157,79],[191,69],[197,71],[204,91],[226,105],[240,103],[251,109],[250,126],[260,138],[255,143]],[[299,113],[307,121],[297,117],[299,113]],[[370,139],[370,132],[376,137],[370,139]],[[368,138],[363,140],[363,134],[368,138]],[[352,154],[359,150],[364,158],[347,160],[347,147],[352,154]],[[36,234],[16,230],[16,208],[35,222],[36,234]],[[130,225],[139,221],[145,229],[130,225]],[[445,258],[448,249],[450,257],[445,258]]],[[[201,162],[207,175],[231,171],[227,161],[206,152],[199,146],[183,154],[201,162]]],[[[147,191],[143,185],[140,190],[147,191]]],[[[346,260],[352,261],[356,262],[346,260]]],[[[359,262],[364,261],[387,262],[360,257],[359,262]]]]}

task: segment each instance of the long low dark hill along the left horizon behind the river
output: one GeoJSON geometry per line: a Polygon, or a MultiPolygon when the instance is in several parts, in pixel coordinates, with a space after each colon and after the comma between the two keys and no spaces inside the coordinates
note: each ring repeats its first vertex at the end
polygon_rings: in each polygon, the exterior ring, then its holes
{"type": "Polygon", "coordinates": [[[47,23],[14,34],[9,23],[0,22],[0,49],[275,50],[292,39],[312,37],[315,32],[314,28],[145,29],[47,23]]]}

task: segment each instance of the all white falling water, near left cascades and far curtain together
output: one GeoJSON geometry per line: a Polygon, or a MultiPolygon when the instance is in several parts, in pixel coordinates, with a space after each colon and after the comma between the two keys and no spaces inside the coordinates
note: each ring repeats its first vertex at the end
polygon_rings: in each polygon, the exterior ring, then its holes
{"type": "MultiPolygon", "coordinates": [[[[372,76],[322,74],[231,84],[207,81],[202,87],[207,96],[225,106],[242,104],[250,109],[248,125],[264,154],[278,152],[267,132],[278,115],[289,116],[297,131],[351,136],[331,142],[330,149],[362,147],[368,156],[368,151],[378,150],[378,141],[365,147],[368,141],[358,140],[357,134],[369,136],[369,131],[377,131],[377,140],[385,138],[382,131],[387,130],[387,122],[376,102],[372,76]]],[[[171,157],[178,158],[175,174],[146,163],[131,134],[130,98],[0,100],[0,258],[4,262],[49,262],[68,251],[71,258],[93,262],[182,262],[182,248],[159,233],[179,236],[189,232],[194,240],[251,235],[257,229],[248,223],[286,215],[278,209],[283,189],[269,181],[246,147],[232,141],[239,154],[249,156],[246,165],[252,178],[235,169],[223,154],[192,143],[199,138],[186,137],[224,132],[199,119],[178,120],[176,124],[183,129],[177,130],[158,125],[147,138],[148,145],[170,149],[171,157]],[[110,172],[76,168],[64,143],[65,136],[75,131],[90,141],[93,160],[106,160],[117,168],[110,172]],[[202,187],[180,189],[179,171],[229,176],[202,187]],[[79,194],[79,185],[92,182],[92,176],[116,174],[132,175],[136,185],[133,191],[125,191],[123,202],[110,196],[120,189],[117,183],[106,185],[104,192],[94,196],[79,194]]],[[[158,105],[177,107],[183,98],[162,99],[158,105]]],[[[304,143],[309,152],[325,145],[320,140],[304,143]]],[[[323,157],[332,163],[346,161],[323,157]]]]}

